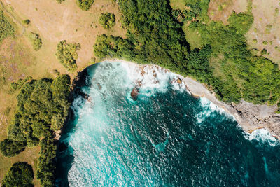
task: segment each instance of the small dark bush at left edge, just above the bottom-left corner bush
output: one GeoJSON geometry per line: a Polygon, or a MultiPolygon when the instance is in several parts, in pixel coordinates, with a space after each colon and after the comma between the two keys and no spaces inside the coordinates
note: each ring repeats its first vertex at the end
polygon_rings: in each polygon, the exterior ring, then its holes
{"type": "Polygon", "coordinates": [[[10,139],[4,139],[0,143],[0,151],[6,157],[13,157],[20,152],[25,151],[25,141],[13,141],[10,139]]]}

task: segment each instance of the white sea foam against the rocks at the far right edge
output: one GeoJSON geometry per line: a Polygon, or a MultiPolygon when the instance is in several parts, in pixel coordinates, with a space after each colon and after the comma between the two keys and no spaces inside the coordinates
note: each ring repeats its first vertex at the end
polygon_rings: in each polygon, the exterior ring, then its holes
{"type": "Polygon", "coordinates": [[[268,143],[270,146],[276,146],[276,144],[279,144],[279,141],[272,137],[272,134],[270,134],[265,128],[254,130],[251,134],[244,132],[244,137],[250,141],[256,139],[263,143],[268,143]]]}

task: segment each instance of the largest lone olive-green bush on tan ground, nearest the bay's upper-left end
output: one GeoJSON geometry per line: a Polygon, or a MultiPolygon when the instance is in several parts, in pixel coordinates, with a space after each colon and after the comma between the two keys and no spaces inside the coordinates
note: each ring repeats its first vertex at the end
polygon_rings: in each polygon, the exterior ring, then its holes
{"type": "Polygon", "coordinates": [[[66,43],[66,41],[60,41],[57,45],[57,58],[69,71],[75,71],[77,69],[76,60],[78,59],[77,50],[79,49],[79,43],[66,43]]]}

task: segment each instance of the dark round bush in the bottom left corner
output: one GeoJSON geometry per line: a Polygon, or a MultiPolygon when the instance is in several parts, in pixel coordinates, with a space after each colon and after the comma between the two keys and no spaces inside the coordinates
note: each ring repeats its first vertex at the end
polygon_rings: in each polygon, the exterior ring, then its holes
{"type": "Polygon", "coordinates": [[[31,165],[27,162],[16,162],[8,170],[1,186],[10,187],[10,186],[26,186],[31,187],[33,184],[34,174],[31,165]]]}

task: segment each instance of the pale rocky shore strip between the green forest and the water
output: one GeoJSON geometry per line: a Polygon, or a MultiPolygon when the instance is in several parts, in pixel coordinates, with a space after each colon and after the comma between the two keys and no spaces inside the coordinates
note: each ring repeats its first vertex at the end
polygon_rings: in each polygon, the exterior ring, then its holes
{"type": "MultiPolygon", "coordinates": [[[[119,59],[106,59],[102,61],[123,62],[137,67],[155,65],[137,64],[137,62],[119,59]]],[[[155,66],[159,67],[158,65],[155,66]]],[[[169,71],[169,69],[167,70],[169,71]]],[[[226,104],[218,100],[215,93],[211,93],[206,86],[195,81],[195,79],[188,76],[183,77],[179,74],[176,74],[176,76],[183,80],[186,85],[186,89],[191,95],[193,95],[193,97],[205,97],[219,108],[224,109],[226,113],[232,115],[235,120],[237,120],[237,123],[239,123],[244,132],[251,134],[254,130],[264,128],[268,130],[273,137],[280,139],[280,114],[274,112],[276,111],[276,105],[267,106],[266,104],[252,104],[244,101],[243,99],[239,104],[226,104]]]]}

